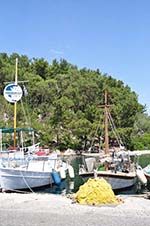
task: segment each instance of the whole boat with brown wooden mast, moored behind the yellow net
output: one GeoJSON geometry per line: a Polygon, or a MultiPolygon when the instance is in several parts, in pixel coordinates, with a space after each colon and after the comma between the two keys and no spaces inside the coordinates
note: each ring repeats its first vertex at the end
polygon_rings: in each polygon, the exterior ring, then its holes
{"type": "Polygon", "coordinates": [[[85,159],[85,167],[79,169],[79,175],[87,179],[89,177],[103,177],[113,190],[128,189],[135,185],[137,178],[142,183],[146,183],[142,172],[136,170],[136,164],[131,160],[130,152],[125,150],[110,152],[108,136],[108,116],[109,105],[107,101],[107,91],[105,90],[104,104],[104,125],[105,125],[105,149],[104,154],[99,157],[98,166],[95,168],[96,161],[94,157],[85,159]],[[92,167],[91,167],[92,166],[92,167]],[[138,175],[137,175],[138,174],[138,175]]]}

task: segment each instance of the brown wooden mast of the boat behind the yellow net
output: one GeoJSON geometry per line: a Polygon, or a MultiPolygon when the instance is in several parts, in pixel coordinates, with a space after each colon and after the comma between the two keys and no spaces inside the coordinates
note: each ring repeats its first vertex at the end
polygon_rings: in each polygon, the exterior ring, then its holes
{"type": "Polygon", "coordinates": [[[105,90],[105,102],[104,102],[104,127],[105,127],[105,154],[109,153],[109,137],[108,137],[108,93],[105,90]]]}

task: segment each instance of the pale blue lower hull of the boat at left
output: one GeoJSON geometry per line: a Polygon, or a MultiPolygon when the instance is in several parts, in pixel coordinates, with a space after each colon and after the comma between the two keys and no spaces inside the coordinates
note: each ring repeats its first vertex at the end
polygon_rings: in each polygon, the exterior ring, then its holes
{"type": "Polygon", "coordinates": [[[8,191],[46,186],[52,184],[53,179],[50,172],[0,168],[0,182],[1,189],[8,191]]]}

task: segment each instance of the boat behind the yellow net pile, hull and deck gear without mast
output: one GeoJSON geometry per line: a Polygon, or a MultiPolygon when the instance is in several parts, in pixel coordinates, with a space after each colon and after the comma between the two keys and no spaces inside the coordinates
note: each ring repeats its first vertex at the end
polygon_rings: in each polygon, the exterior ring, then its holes
{"type": "Polygon", "coordinates": [[[116,163],[111,163],[110,157],[107,157],[106,159],[107,167],[105,162],[103,165],[99,163],[99,166],[97,167],[96,165],[98,164],[94,157],[85,159],[85,169],[80,168],[79,175],[84,180],[87,180],[89,177],[103,177],[111,185],[113,190],[128,189],[135,185],[137,181],[137,173],[134,168],[134,163],[132,163],[133,165],[131,164],[130,169],[127,170],[123,168],[123,163],[119,161],[119,158],[117,158],[116,163]],[[88,159],[90,159],[90,161],[87,161],[88,159]],[[89,163],[90,166],[88,166],[89,163]],[[88,169],[90,169],[90,171],[88,169]]]}

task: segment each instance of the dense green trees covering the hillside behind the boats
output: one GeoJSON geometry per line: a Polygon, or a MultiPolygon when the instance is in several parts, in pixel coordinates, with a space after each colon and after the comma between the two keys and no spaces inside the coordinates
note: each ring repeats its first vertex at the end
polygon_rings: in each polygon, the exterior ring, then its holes
{"type": "MultiPolygon", "coordinates": [[[[28,95],[22,98],[27,110],[21,113],[23,105],[21,102],[17,104],[17,126],[26,126],[28,120],[39,132],[42,144],[55,145],[60,149],[87,150],[94,140],[100,142],[99,137],[103,137],[101,106],[104,104],[104,90],[107,89],[117,131],[121,132],[128,148],[137,147],[136,142],[131,142],[131,137],[135,131],[136,116],[138,113],[143,116],[144,107],[138,103],[136,93],[122,81],[99,70],[78,69],[64,59],[55,59],[50,64],[43,58],[29,59],[17,53],[10,56],[0,54],[1,126],[12,126],[13,123],[13,105],[7,103],[2,95],[5,82],[14,80],[16,57],[19,60],[19,80],[28,81],[20,83],[28,91],[28,95]]],[[[141,123],[144,131],[150,132],[150,124],[141,123]]],[[[112,133],[110,136],[113,137],[112,133]]]]}

